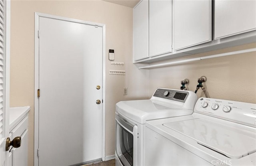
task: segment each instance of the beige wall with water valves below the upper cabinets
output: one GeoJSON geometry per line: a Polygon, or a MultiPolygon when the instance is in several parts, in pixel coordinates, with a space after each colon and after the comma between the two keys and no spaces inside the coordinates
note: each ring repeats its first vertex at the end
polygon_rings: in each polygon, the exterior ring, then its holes
{"type": "MultiPolygon", "coordinates": [[[[246,45],[175,58],[164,62],[178,61],[181,59],[190,59],[194,57],[202,57],[255,47],[256,43],[250,43],[246,45]]],[[[204,82],[203,85],[207,91],[208,97],[256,103],[255,52],[204,59],[201,61],[193,61],[189,63],[148,70],[150,72],[149,94],[154,93],[157,87],[180,89],[180,81],[184,79],[189,80],[189,83],[186,85],[187,89],[190,91],[195,91],[196,85],[198,85],[197,79],[201,76],[205,76],[206,82],[204,82]]],[[[198,97],[205,97],[202,89],[198,90],[197,95],[198,97]]]]}

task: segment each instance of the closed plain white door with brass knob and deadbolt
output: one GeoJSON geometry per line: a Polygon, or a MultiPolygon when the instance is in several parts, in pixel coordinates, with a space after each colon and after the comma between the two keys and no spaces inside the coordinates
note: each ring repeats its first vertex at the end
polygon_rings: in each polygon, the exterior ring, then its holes
{"type": "Polygon", "coordinates": [[[39,166],[102,158],[102,29],[39,18],[39,166]]]}

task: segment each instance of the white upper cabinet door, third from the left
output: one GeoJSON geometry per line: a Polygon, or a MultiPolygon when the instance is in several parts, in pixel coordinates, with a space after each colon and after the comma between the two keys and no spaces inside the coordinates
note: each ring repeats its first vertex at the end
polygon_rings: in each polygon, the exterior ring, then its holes
{"type": "Polygon", "coordinates": [[[212,40],[212,1],[174,0],[174,50],[212,40]]]}

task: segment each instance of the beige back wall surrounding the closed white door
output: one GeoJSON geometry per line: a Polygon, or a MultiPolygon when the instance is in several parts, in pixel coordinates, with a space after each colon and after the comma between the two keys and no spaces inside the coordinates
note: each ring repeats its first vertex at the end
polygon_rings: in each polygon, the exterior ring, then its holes
{"type": "Polygon", "coordinates": [[[31,107],[29,166],[34,164],[34,12],[106,24],[105,154],[114,155],[115,104],[148,98],[149,71],[138,70],[132,63],[132,8],[101,0],[11,1],[10,106],[31,107]],[[124,66],[110,64],[108,49],[115,50],[115,61],[124,66]],[[126,75],[109,75],[110,69],[125,70],[126,75]],[[124,87],[128,87],[128,95],[123,95],[124,87]]]}

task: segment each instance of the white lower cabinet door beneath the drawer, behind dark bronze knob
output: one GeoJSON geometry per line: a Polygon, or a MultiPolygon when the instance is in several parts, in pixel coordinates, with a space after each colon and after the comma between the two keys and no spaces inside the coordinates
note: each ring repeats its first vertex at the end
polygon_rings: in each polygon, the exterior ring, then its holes
{"type": "Polygon", "coordinates": [[[21,145],[13,148],[12,166],[28,166],[28,129],[21,135],[21,145]]]}

